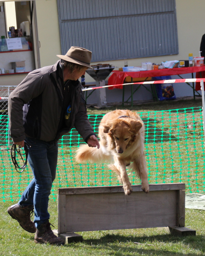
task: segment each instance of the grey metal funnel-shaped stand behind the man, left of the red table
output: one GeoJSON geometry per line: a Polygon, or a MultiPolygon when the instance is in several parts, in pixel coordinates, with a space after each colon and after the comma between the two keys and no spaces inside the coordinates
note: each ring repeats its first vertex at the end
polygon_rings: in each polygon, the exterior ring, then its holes
{"type": "MultiPolygon", "coordinates": [[[[105,80],[109,76],[109,74],[113,71],[115,66],[110,64],[98,64],[92,65],[92,68],[95,69],[87,69],[86,72],[96,81],[96,86],[105,86],[105,80]]],[[[105,107],[107,106],[107,99],[106,99],[106,90],[105,88],[97,89],[97,104],[98,107],[105,107]]]]}

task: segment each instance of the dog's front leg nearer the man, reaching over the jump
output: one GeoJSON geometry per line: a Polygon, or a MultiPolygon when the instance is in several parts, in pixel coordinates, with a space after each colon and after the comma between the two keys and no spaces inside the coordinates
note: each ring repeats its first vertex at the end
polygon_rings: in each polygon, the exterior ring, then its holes
{"type": "Polygon", "coordinates": [[[114,165],[120,172],[120,178],[122,180],[125,195],[129,196],[132,193],[133,189],[131,187],[128,174],[126,172],[126,162],[123,160],[115,159],[114,165]]]}

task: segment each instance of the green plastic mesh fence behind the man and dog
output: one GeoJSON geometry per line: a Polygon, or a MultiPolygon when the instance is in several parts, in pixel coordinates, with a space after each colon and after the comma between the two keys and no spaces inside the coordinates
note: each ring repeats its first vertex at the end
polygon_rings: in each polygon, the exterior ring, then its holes
{"type": "MultiPolygon", "coordinates": [[[[150,183],[186,184],[186,192],[204,193],[204,131],[202,108],[138,113],[146,127],[145,153],[150,183]]],[[[89,115],[95,133],[103,115],[89,115]]],[[[8,116],[0,116],[0,201],[17,201],[32,179],[29,167],[19,174],[12,163],[8,116]]],[[[50,199],[57,198],[59,187],[120,185],[107,164],[75,162],[75,151],[85,143],[75,129],[59,141],[56,179],[50,199]]],[[[140,180],[129,174],[132,184],[140,180]]]]}

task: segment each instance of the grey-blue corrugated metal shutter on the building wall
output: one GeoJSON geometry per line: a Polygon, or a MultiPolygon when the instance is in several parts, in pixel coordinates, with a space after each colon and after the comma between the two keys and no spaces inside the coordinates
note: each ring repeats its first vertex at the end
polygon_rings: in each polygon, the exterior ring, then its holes
{"type": "Polygon", "coordinates": [[[175,0],[57,0],[62,54],[92,61],[178,54],[175,0]]]}

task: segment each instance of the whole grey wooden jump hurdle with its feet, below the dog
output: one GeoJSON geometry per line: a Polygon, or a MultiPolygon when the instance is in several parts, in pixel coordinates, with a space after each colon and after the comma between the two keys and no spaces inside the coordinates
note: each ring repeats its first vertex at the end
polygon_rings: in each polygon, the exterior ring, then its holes
{"type": "Polygon", "coordinates": [[[185,184],[150,184],[144,193],[133,185],[58,189],[58,230],[66,243],[82,241],[74,232],[169,227],[173,235],[196,235],[185,226],[185,184]]]}

